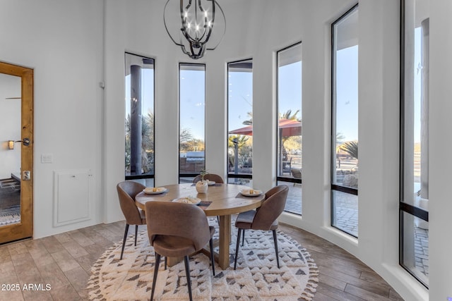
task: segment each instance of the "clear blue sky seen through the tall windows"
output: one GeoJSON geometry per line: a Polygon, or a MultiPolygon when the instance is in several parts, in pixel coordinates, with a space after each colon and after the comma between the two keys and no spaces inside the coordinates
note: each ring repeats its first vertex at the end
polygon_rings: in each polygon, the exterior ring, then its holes
{"type": "MultiPolygon", "coordinates": [[[[417,33],[417,37],[420,33],[417,33]]],[[[419,39],[416,39],[419,43],[419,39]]],[[[419,49],[419,47],[416,47],[419,49]]],[[[420,54],[415,54],[415,60],[420,60],[420,54]]],[[[357,140],[358,130],[358,47],[341,49],[337,53],[337,116],[336,131],[345,136],[343,141],[357,140]]],[[[295,113],[299,109],[297,118],[302,118],[302,62],[282,66],[278,73],[278,109],[280,113],[292,110],[295,113]]],[[[419,75],[420,77],[420,75],[419,75]]],[[[143,69],[143,114],[153,111],[154,104],[154,70],[143,69]]],[[[417,78],[415,74],[415,79],[417,78]]],[[[251,72],[230,72],[228,76],[228,130],[242,128],[243,121],[249,120],[248,112],[252,112],[253,105],[253,79],[251,72]]],[[[415,83],[415,98],[419,98],[420,87],[415,83]]],[[[126,112],[130,111],[130,76],[126,76],[126,112]]],[[[205,109],[205,73],[200,70],[180,71],[180,126],[190,129],[191,134],[204,140],[205,109]]],[[[258,102],[254,99],[254,102],[258,102]]],[[[416,107],[419,107],[418,105],[416,107]]],[[[419,115],[419,109],[415,114],[419,115]]],[[[417,118],[415,118],[417,120],[417,118]]],[[[419,125],[415,133],[420,133],[419,125]]]]}

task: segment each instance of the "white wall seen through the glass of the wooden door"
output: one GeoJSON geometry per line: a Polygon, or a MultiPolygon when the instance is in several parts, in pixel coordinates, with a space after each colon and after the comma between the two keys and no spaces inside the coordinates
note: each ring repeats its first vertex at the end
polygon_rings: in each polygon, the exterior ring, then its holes
{"type": "Polygon", "coordinates": [[[0,179],[20,170],[20,144],[8,149],[8,140],[20,140],[20,78],[0,74],[0,179]]]}

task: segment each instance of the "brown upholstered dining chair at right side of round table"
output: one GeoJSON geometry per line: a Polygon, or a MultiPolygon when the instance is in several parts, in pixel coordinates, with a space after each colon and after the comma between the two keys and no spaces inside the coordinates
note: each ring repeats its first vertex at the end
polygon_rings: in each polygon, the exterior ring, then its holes
{"type": "MultiPolygon", "coordinates": [[[[257,210],[242,212],[237,216],[235,226],[237,228],[237,245],[235,247],[234,269],[237,268],[237,256],[239,253],[240,236],[245,235],[246,229],[273,231],[273,242],[275,244],[276,262],[280,267],[278,257],[278,240],[276,229],[278,229],[278,216],[283,212],[289,186],[278,185],[266,192],[266,199],[257,210]]],[[[243,242],[242,242],[243,243],[243,242]]]]}

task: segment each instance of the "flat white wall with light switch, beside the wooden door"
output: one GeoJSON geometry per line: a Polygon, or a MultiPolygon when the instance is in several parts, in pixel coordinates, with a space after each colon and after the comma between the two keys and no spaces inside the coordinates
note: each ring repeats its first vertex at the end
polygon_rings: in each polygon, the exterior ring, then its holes
{"type": "Polygon", "coordinates": [[[102,1],[0,1],[0,60],[34,69],[34,231],[102,221],[102,1]],[[53,164],[41,164],[53,154],[53,164]],[[54,228],[53,171],[89,168],[92,219],[54,228]]]}

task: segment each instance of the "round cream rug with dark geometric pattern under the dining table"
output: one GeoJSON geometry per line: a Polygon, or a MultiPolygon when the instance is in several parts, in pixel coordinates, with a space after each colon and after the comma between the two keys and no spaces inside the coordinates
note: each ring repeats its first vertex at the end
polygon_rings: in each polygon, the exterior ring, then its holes
{"type": "MultiPolygon", "coordinates": [[[[237,231],[233,231],[236,233],[237,231]]],[[[232,237],[232,242],[237,240],[232,237]]],[[[285,233],[278,232],[280,269],[276,264],[271,231],[246,231],[234,271],[235,243],[230,247],[231,266],[222,271],[215,265],[212,276],[209,258],[190,257],[194,300],[312,300],[319,271],[307,250],[285,233]]],[[[93,265],[88,281],[90,300],[149,300],[153,284],[155,252],[145,231],[110,247],[93,265]]],[[[189,300],[184,262],[167,270],[161,262],[154,300],[189,300]]]]}

